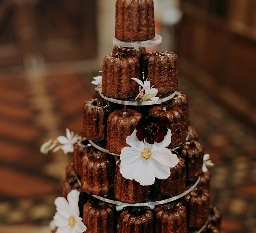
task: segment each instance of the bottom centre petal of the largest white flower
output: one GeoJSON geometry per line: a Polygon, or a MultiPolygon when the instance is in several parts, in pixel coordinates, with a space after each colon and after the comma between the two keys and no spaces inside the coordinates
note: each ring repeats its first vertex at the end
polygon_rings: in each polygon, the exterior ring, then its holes
{"type": "Polygon", "coordinates": [[[155,183],[154,167],[151,159],[141,159],[134,172],[134,179],[141,185],[151,185],[155,183]]]}

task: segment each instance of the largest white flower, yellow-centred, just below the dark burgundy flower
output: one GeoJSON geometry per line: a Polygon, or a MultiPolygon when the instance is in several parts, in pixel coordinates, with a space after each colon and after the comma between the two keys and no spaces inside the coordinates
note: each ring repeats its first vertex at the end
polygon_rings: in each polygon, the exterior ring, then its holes
{"type": "Polygon", "coordinates": [[[120,172],[124,178],[136,180],[141,185],[151,185],[158,179],[167,179],[170,168],[175,167],[179,159],[176,154],[165,148],[171,142],[171,130],[160,143],[149,144],[145,140],[139,141],[137,130],[126,138],[126,146],[120,154],[120,172]]]}

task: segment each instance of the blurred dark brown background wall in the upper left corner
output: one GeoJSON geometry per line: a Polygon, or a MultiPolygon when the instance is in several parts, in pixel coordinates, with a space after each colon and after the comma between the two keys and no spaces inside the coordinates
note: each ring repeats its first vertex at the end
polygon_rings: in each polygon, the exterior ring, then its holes
{"type": "Polygon", "coordinates": [[[96,1],[1,0],[0,66],[92,59],[95,28],[96,1]]]}

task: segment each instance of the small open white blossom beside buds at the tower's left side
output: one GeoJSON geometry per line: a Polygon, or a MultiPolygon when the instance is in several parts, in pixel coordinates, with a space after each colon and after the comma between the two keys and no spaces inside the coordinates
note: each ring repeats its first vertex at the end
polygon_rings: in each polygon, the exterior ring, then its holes
{"type": "Polygon", "coordinates": [[[61,149],[66,154],[68,152],[74,151],[74,144],[81,138],[78,134],[74,132],[70,132],[68,128],[66,128],[67,136],[58,136],[57,140],[62,144],[61,149]]]}

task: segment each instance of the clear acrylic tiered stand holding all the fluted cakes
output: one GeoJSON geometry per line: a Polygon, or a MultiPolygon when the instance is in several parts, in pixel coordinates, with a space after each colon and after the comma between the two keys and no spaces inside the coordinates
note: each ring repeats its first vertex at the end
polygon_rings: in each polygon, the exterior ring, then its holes
{"type": "MultiPolygon", "coordinates": [[[[136,50],[136,55],[137,57],[140,59],[141,54],[140,54],[140,48],[141,47],[149,47],[149,46],[155,46],[158,45],[162,42],[162,37],[160,35],[156,35],[156,37],[153,40],[147,40],[147,41],[139,41],[139,42],[125,42],[125,41],[120,41],[117,40],[116,38],[113,38],[113,44],[117,45],[117,46],[122,46],[122,47],[127,47],[127,48],[135,48],[136,50]]],[[[105,97],[102,93],[101,93],[101,89],[99,89],[99,94],[102,98],[104,98],[105,100],[115,103],[115,104],[120,104],[123,105],[124,109],[126,109],[126,106],[148,106],[148,105],[154,105],[155,103],[153,101],[135,101],[135,100],[119,100],[119,99],[113,99],[113,98],[107,98],[105,97]]],[[[175,93],[164,97],[162,99],[159,99],[159,103],[164,103],[170,99],[172,99],[175,96],[175,93]]],[[[108,154],[112,154],[114,156],[120,156],[119,154],[115,154],[115,153],[111,153],[108,149],[106,149],[106,142],[105,141],[92,141],[89,140],[90,144],[92,146],[94,146],[95,148],[97,148],[98,150],[101,150],[105,153],[108,154]]],[[[171,150],[175,150],[177,148],[171,149],[171,150]]],[[[117,157],[118,158],[118,157],[117,157]]],[[[79,178],[77,177],[78,183],[79,185],[81,185],[81,182],[79,180],[79,178]]],[[[149,207],[154,207],[155,205],[160,205],[160,204],[164,204],[164,203],[168,203],[168,202],[172,202],[175,200],[178,200],[179,198],[187,195],[188,193],[190,193],[199,183],[200,181],[200,177],[197,179],[197,181],[191,185],[190,187],[187,188],[187,190],[185,190],[183,193],[177,195],[177,196],[173,196],[173,197],[151,197],[150,200],[148,200],[147,202],[143,202],[143,203],[135,203],[135,204],[128,204],[128,203],[123,203],[120,202],[118,200],[116,200],[114,198],[114,194],[110,194],[108,196],[97,196],[97,195],[92,195],[94,198],[97,198],[101,201],[104,202],[108,202],[111,204],[115,204],[117,205],[117,209],[122,209],[122,207],[124,206],[134,206],[134,207],[139,207],[139,206],[149,206],[149,207]]],[[[207,226],[208,221],[205,223],[205,225],[201,228],[201,229],[197,229],[197,230],[189,230],[189,233],[200,233],[204,230],[204,228],[207,226]]]]}

